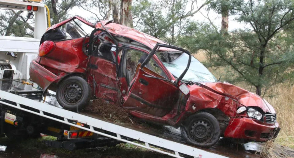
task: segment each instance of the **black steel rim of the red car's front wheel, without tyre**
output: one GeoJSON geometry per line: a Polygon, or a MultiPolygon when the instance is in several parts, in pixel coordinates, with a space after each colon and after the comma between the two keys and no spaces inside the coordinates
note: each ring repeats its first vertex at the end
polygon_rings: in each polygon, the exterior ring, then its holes
{"type": "Polygon", "coordinates": [[[196,119],[190,125],[188,134],[198,143],[207,143],[213,138],[213,126],[207,119],[196,119]]]}

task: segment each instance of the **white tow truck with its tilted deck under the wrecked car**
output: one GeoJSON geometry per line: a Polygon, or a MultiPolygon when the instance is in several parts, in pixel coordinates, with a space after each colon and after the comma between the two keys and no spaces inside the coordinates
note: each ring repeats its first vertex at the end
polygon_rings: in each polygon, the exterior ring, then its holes
{"type": "Polygon", "coordinates": [[[33,88],[28,80],[29,63],[37,55],[47,26],[50,27],[49,10],[46,16],[47,6],[38,2],[0,0],[2,9],[23,10],[28,12],[28,18],[32,14],[35,17],[34,38],[0,36],[0,59],[3,61],[0,63],[1,137],[36,138],[43,133],[57,137],[58,141],[44,142],[48,146],[70,150],[129,143],[177,158],[258,157],[219,143],[208,149],[187,145],[179,129],[173,127],[166,126],[163,132],[157,133],[65,110],[55,97],[47,97],[45,102],[43,91],[33,88]]]}

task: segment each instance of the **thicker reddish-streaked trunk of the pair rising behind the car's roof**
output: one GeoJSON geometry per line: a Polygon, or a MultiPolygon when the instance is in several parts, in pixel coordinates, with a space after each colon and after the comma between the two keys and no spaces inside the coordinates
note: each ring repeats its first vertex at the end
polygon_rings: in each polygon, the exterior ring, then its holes
{"type": "Polygon", "coordinates": [[[121,2],[121,24],[133,28],[132,0],[122,0],[121,2]]]}

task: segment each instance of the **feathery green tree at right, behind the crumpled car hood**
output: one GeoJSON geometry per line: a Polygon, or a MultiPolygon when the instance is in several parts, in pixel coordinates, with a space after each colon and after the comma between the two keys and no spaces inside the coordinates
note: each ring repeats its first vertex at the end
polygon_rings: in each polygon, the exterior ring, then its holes
{"type": "Polygon", "coordinates": [[[213,67],[226,67],[226,80],[246,81],[261,95],[293,77],[293,2],[248,1],[234,6],[244,30],[223,35],[211,25],[191,23],[181,44],[191,52],[205,50],[213,67]]]}

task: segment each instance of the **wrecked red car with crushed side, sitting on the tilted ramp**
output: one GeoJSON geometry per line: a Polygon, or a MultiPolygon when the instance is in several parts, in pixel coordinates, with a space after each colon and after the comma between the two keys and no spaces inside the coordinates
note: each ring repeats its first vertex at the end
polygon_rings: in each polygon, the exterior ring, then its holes
{"type": "Polygon", "coordinates": [[[185,141],[201,147],[220,137],[267,141],[280,130],[262,97],[217,81],[183,48],[107,20],[75,16],[48,28],[30,77],[55,91],[63,108],[101,98],[145,121],[181,127],[185,141]]]}

